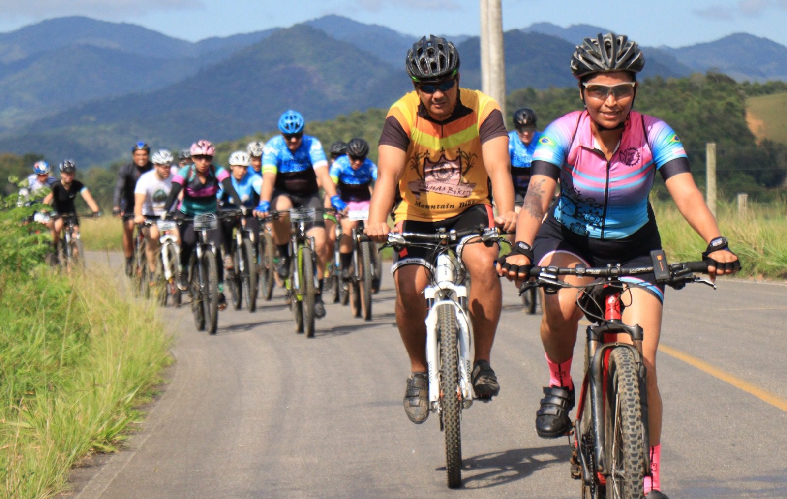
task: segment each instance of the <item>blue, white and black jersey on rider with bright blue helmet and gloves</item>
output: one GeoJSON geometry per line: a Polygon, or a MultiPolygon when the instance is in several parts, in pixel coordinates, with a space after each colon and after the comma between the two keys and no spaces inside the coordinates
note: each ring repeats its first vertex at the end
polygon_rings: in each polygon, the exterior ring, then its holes
{"type": "Polygon", "coordinates": [[[262,172],[275,173],[275,189],[287,194],[311,196],[317,194],[317,168],[328,166],[323,145],[318,139],[304,135],[297,150],[290,151],[282,135],[265,143],[262,153],[262,172]]]}

